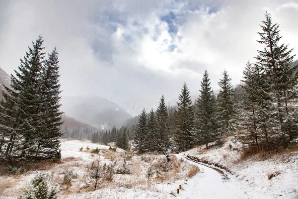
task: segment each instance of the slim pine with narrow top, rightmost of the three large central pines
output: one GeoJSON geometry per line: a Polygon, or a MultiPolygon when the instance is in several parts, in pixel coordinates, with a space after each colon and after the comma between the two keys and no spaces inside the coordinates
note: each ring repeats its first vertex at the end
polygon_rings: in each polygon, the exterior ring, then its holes
{"type": "Polygon", "coordinates": [[[236,105],[233,101],[233,88],[231,84],[231,78],[224,70],[223,79],[220,79],[219,86],[221,88],[220,93],[217,96],[218,100],[218,118],[220,131],[224,133],[233,133],[236,129],[236,105]]]}

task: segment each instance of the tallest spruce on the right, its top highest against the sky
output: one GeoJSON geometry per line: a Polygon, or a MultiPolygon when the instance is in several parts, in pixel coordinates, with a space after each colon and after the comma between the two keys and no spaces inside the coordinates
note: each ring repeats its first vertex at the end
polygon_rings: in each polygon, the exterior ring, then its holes
{"type": "Polygon", "coordinates": [[[256,67],[261,68],[266,75],[271,95],[271,116],[278,121],[277,128],[273,130],[282,138],[285,147],[289,140],[297,134],[298,118],[296,107],[289,106],[297,100],[297,67],[291,68],[294,56],[289,45],[279,44],[282,36],[279,34],[279,25],[272,23],[272,18],[266,12],[265,20],[260,25],[262,32],[258,32],[261,39],[257,41],[264,45],[263,50],[258,50],[256,67]]]}

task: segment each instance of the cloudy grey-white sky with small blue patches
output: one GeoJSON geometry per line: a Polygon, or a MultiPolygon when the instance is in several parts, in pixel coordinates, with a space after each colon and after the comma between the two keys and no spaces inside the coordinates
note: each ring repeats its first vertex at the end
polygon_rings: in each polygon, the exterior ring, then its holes
{"type": "Polygon", "coordinates": [[[266,11],[298,54],[298,0],[0,0],[0,67],[13,73],[42,34],[45,52],[57,46],[63,97],[158,104],[184,82],[198,96],[205,70],[214,90],[224,69],[240,83],[266,11]]]}

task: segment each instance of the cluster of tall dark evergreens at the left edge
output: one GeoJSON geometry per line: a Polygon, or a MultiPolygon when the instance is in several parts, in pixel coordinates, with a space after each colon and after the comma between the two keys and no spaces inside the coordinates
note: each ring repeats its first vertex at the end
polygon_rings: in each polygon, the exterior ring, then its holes
{"type": "Polygon", "coordinates": [[[47,58],[39,36],[0,102],[0,161],[60,158],[60,84],[56,48],[47,58]]]}

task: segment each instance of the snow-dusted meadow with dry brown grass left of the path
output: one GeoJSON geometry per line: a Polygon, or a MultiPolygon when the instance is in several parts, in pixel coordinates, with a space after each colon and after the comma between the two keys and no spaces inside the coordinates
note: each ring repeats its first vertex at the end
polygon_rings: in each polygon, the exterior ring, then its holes
{"type": "Polygon", "coordinates": [[[100,164],[108,165],[113,160],[115,170],[122,166],[125,154],[122,149],[113,152],[108,150],[108,146],[86,140],[62,139],[61,162],[41,162],[32,166],[24,174],[0,176],[0,198],[16,199],[24,193],[30,181],[40,173],[53,174],[51,186],[59,188],[59,199],[175,198],[179,185],[184,188],[187,185],[185,183],[190,179],[188,175],[191,173],[192,166],[183,158],[177,159],[172,156],[173,161],[167,163],[163,155],[131,154],[131,159],[127,161],[131,174],[114,174],[112,181],[105,182],[99,185],[100,189],[92,191],[86,187],[84,175],[86,175],[86,164],[90,164],[98,157],[90,153],[95,148],[101,150],[100,164]],[[83,149],[79,150],[81,147],[83,149]],[[149,167],[153,168],[150,178],[147,175],[149,167]],[[159,167],[160,171],[158,171],[159,167]],[[64,185],[67,170],[72,170],[78,175],[77,178],[72,179],[70,186],[64,185]]]}

